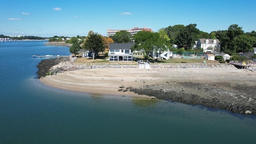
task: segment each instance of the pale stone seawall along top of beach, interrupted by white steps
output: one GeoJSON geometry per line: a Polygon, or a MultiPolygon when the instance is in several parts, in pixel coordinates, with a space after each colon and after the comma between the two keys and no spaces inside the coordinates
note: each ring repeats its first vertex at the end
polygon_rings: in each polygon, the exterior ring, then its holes
{"type": "MultiPolygon", "coordinates": [[[[58,74],[64,71],[83,70],[91,68],[138,68],[137,64],[74,64],[76,57],[69,56],[68,59],[47,59],[42,64],[49,63],[52,67],[44,70],[48,74],[58,74]]],[[[42,64],[38,66],[42,67],[42,64]]],[[[230,64],[151,64],[151,70],[163,69],[229,69],[234,68],[230,64]]],[[[44,75],[45,76],[45,75],[44,75]]]]}

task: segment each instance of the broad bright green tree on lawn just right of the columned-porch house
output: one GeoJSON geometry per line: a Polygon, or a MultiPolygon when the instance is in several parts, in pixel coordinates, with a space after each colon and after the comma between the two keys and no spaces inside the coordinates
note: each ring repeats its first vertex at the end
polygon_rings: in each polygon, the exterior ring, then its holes
{"type": "Polygon", "coordinates": [[[166,50],[166,40],[160,38],[158,32],[140,31],[134,34],[134,50],[144,50],[146,59],[148,55],[156,50],[166,50]]]}

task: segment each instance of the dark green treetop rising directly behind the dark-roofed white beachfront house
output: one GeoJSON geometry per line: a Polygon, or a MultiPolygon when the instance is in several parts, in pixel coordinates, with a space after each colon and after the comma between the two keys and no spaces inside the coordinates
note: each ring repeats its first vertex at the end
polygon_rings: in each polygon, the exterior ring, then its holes
{"type": "Polygon", "coordinates": [[[115,43],[129,43],[131,42],[130,37],[130,32],[127,32],[126,30],[121,30],[116,32],[114,36],[110,36],[110,38],[112,38],[115,43]]]}

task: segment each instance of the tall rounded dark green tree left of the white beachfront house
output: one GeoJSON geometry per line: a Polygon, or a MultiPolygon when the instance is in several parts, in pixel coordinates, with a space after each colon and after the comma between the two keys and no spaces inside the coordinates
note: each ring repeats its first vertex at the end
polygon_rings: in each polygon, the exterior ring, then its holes
{"type": "Polygon", "coordinates": [[[105,50],[102,36],[98,33],[91,34],[84,43],[84,48],[92,51],[92,59],[94,60],[96,54],[98,55],[99,52],[104,52],[105,50]]]}

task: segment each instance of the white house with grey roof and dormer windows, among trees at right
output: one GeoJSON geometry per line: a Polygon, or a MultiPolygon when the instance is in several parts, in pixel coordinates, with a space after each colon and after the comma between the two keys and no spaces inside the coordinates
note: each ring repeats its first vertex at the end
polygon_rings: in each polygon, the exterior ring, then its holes
{"type": "Polygon", "coordinates": [[[199,38],[196,48],[202,48],[204,52],[220,51],[220,41],[218,39],[199,38]]]}

